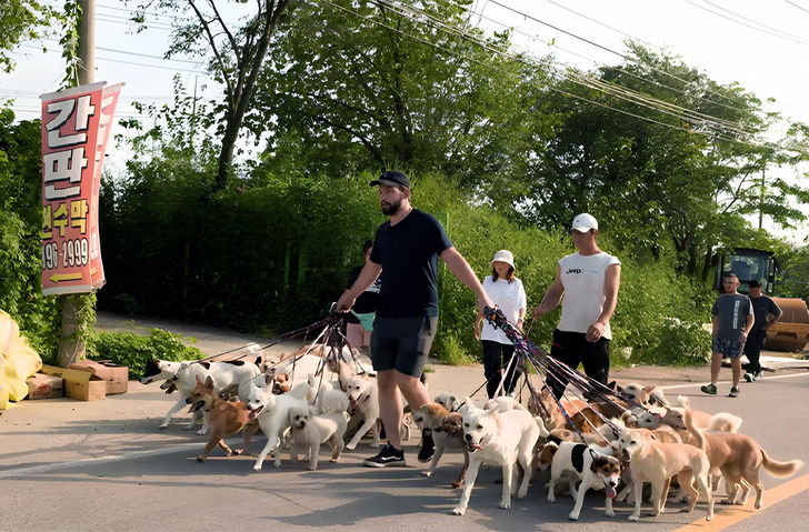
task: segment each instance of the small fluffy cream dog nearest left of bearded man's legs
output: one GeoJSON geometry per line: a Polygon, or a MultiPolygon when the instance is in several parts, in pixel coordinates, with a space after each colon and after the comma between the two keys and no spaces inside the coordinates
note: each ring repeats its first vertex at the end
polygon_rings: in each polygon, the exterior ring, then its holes
{"type": "MultiPolygon", "coordinates": [[[[342,399],[348,403],[346,395],[342,399]]],[[[337,462],[340,459],[346,446],[342,436],[348,428],[348,404],[341,406],[337,405],[333,411],[322,414],[318,414],[314,406],[304,409],[296,405],[290,409],[292,449],[289,455],[292,462],[297,462],[298,454],[302,452],[304,456],[309,456],[309,470],[317,470],[320,444],[327,442],[331,448],[331,461],[337,462]]]]}

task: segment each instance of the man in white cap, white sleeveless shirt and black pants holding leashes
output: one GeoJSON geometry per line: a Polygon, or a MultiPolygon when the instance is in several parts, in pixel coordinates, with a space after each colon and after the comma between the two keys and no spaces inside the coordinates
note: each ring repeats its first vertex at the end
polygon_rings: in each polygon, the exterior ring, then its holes
{"type": "MultiPolygon", "coordinates": [[[[533,309],[533,318],[556,309],[565,295],[550,354],[573,369],[582,364],[587,377],[607,384],[612,338],[610,318],[618,303],[621,262],[598,248],[598,221],[592,215],[576,217],[570,234],[579,251],[559,260],[556,279],[542,302],[533,309]]],[[[568,380],[557,373],[549,373],[548,384],[560,398],[568,380]]]]}

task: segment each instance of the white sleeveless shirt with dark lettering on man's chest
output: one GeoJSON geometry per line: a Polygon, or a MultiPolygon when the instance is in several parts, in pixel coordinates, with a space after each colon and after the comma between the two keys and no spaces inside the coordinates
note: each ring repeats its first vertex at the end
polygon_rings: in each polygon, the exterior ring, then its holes
{"type": "MultiPolygon", "coordinates": [[[[618,258],[603,251],[587,257],[577,252],[559,260],[565,287],[562,319],[558,327],[560,331],[586,333],[596,323],[607,300],[603,293],[607,268],[620,263],[618,258]]],[[[602,337],[607,340],[612,338],[609,323],[605,327],[602,337]]]]}

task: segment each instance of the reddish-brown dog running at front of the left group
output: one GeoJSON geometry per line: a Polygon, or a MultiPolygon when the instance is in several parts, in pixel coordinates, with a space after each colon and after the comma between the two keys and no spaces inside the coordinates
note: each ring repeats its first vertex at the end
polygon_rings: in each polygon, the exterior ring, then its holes
{"type": "Polygon", "coordinates": [[[204,383],[197,375],[197,387],[191,390],[186,402],[191,405],[191,412],[203,412],[208,433],[211,435],[202,454],[197,456],[198,462],[204,462],[217,444],[222,448],[228,456],[231,454],[241,454],[243,449],[231,451],[224,443],[222,439],[224,434],[236,434],[242,431],[244,448],[247,448],[250,443],[250,438],[258,430],[258,423],[249,419],[250,412],[247,409],[247,403],[228,402],[220,399],[214,392],[213,379],[210,375],[206,379],[204,383]]]}

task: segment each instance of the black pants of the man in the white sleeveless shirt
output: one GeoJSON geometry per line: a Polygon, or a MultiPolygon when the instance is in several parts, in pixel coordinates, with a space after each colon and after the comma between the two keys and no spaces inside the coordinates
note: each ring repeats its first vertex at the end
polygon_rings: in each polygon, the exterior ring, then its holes
{"type": "MultiPolygon", "coordinates": [[[[579,364],[585,367],[585,374],[590,379],[607,384],[610,377],[610,341],[600,338],[596,342],[588,342],[583,332],[568,332],[556,329],[550,355],[573,370],[579,364]]],[[[550,371],[548,384],[553,395],[561,398],[569,379],[560,375],[558,371],[550,371]]]]}

